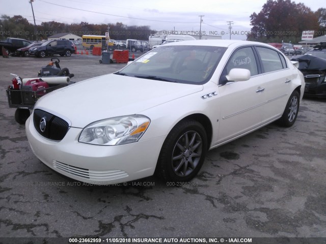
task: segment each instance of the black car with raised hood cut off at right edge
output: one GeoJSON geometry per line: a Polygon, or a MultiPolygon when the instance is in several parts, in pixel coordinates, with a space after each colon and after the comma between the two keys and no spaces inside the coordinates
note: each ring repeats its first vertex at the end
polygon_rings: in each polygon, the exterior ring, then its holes
{"type": "Polygon", "coordinates": [[[299,70],[305,77],[306,97],[326,97],[326,43],[307,51],[305,55],[292,58],[299,62],[299,70]]]}

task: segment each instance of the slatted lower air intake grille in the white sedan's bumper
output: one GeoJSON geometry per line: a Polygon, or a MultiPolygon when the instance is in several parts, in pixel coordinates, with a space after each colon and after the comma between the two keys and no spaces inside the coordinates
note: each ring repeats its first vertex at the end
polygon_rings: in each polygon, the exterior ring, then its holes
{"type": "Polygon", "coordinates": [[[105,171],[95,171],[84,168],[79,168],[76,166],[64,164],[59,161],[53,161],[53,167],[58,169],[59,171],[64,171],[73,176],[78,176],[81,178],[94,180],[94,181],[106,181],[106,180],[114,180],[127,177],[128,174],[122,170],[105,170],[105,171]]]}

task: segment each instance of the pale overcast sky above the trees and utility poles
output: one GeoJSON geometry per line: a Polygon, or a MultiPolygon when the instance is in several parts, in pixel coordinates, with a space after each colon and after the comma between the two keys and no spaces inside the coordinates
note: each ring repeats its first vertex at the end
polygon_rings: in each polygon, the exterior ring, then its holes
{"type": "MultiPolygon", "coordinates": [[[[251,29],[250,15],[259,13],[266,2],[267,0],[34,0],[33,9],[36,24],[47,21],[67,24],[82,21],[93,24],[122,22],[125,25],[148,25],[158,35],[160,31],[199,34],[201,28],[202,34],[222,36],[222,39],[230,38],[228,21],[232,21],[232,39],[244,40],[251,29]]],[[[303,3],[312,11],[325,7],[324,0],[294,2],[303,3]]],[[[0,15],[21,15],[34,23],[29,0],[0,0],[0,6],[0,15]]]]}

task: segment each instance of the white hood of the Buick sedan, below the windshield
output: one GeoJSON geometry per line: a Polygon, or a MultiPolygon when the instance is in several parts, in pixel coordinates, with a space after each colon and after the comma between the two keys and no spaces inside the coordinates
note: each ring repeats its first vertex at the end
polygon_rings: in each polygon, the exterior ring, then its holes
{"type": "Polygon", "coordinates": [[[100,119],[141,113],[202,89],[202,85],[110,74],[55,90],[39,99],[35,108],[68,118],[72,127],[84,128],[100,119]]]}

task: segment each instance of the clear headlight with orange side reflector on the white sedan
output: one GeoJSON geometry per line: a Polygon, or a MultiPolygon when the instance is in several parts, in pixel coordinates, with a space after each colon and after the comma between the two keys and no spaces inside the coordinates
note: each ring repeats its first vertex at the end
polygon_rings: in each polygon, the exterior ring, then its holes
{"type": "Polygon", "coordinates": [[[150,119],[144,115],[108,118],[85,127],[78,141],[94,145],[121,145],[138,141],[150,119]]]}

